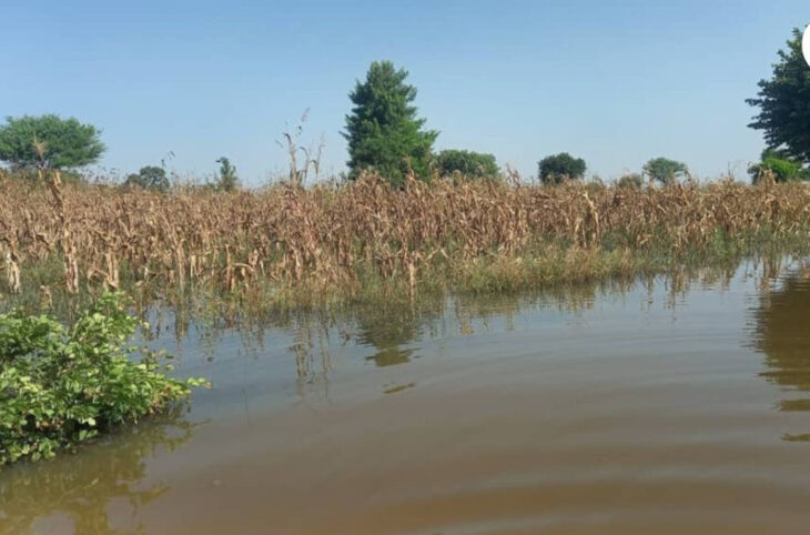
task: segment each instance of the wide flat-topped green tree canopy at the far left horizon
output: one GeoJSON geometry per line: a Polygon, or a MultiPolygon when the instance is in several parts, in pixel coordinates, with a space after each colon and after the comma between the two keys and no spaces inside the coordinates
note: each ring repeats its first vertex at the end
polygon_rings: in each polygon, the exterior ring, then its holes
{"type": "Polygon", "coordinates": [[[0,160],[16,169],[70,169],[94,163],[104,152],[99,130],[75,118],[24,115],[0,127],[0,160]]]}

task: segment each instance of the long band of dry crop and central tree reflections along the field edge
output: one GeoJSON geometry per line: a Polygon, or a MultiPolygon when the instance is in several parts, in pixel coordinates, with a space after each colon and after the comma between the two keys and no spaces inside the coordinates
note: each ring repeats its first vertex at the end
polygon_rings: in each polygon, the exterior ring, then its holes
{"type": "MultiPolygon", "coordinates": [[[[762,265],[771,265],[765,262],[762,265]]],[[[265,339],[283,332],[290,335],[287,346],[294,355],[298,378],[312,383],[317,375],[331,371],[330,349],[336,343],[373,349],[367,357],[377,366],[405,364],[418,356],[414,343],[446,334],[486,332],[489,322],[503,320],[505,331],[513,330],[513,320],[525,312],[557,310],[579,314],[593,310],[600,296],[624,296],[646,290],[646,306],[656,302],[676,307],[693,285],[725,291],[736,273],[735,266],[710,269],[680,268],[667,274],[574,285],[558,285],[534,292],[498,294],[417,295],[416,299],[393,295],[383,302],[332,305],[328,310],[291,311],[262,309],[254,300],[236,306],[212,295],[194,295],[188,303],[139,303],[150,329],[142,333],[149,342],[159,342],[170,352],[186,353],[191,349],[201,360],[217,360],[223,344],[239,341],[240,352],[253,357],[265,353],[265,339]],[[175,347],[171,344],[174,342],[175,347]],[[190,347],[186,347],[190,346],[190,347]]],[[[757,271],[760,268],[757,266],[757,271]]],[[[220,352],[221,353],[221,352],[220,352]]]]}

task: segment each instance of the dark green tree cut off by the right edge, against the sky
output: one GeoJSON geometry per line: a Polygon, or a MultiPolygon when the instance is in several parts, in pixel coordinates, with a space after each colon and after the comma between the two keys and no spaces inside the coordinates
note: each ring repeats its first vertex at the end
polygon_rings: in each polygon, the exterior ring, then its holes
{"type": "Polygon", "coordinates": [[[810,68],[801,52],[802,33],[793,29],[786,50],[778,52],[770,80],[759,81],[757,98],[746,100],[758,107],[750,128],[762,130],[769,149],[810,162],[810,68]]]}

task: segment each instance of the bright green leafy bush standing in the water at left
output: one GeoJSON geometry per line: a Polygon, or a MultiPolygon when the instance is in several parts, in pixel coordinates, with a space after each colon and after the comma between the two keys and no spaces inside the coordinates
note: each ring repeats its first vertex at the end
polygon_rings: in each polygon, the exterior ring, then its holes
{"type": "Polygon", "coordinates": [[[162,355],[129,346],[138,324],[120,293],[102,295],[71,327],[48,315],[0,314],[0,466],[51,457],[206,384],[168,377],[162,355]],[[135,352],[140,362],[129,357],[135,352]]]}

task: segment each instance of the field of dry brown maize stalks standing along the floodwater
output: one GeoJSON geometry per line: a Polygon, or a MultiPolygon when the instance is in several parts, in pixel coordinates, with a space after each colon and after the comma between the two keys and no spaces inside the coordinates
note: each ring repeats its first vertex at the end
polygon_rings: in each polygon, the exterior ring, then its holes
{"type": "Polygon", "coordinates": [[[804,246],[810,235],[810,189],[772,180],[627,188],[411,178],[398,188],[366,174],[165,194],[12,178],[0,186],[9,200],[0,289],[43,301],[213,290],[298,305],[385,287],[531,289],[804,246]]]}

